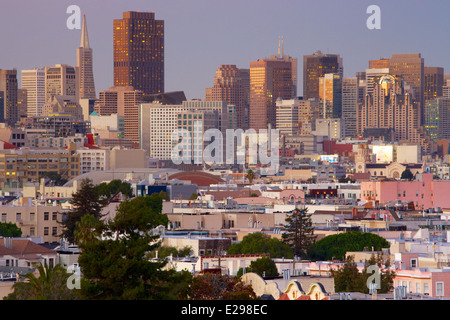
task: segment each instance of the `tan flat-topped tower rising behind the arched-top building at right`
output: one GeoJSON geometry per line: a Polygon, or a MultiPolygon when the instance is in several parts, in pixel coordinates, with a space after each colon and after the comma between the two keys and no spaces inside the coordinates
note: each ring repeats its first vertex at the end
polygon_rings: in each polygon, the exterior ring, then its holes
{"type": "Polygon", "coordinates": [[[420,53],[393,54],[389,59],[389,74],[399,76],[414,89],[414,101],[419,110],[419,124],[423,125],[424,108],[424,59],[420,53]]]}

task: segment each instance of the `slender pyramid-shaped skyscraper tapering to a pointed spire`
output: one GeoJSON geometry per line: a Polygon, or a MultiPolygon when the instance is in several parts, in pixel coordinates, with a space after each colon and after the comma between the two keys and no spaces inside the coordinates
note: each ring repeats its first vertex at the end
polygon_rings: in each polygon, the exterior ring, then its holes
{"type": "Polygon", "coordinates": [[[79,81],[79,98],[95,99],[95,84],[93,71],[93,55],[92,48],[89,45],[89,37],[87,33],[86,16],[83,15],[83,25],[81,28],[80,47],[77,49],[77,67],[80,71],[79,81]]]}

